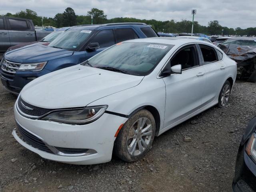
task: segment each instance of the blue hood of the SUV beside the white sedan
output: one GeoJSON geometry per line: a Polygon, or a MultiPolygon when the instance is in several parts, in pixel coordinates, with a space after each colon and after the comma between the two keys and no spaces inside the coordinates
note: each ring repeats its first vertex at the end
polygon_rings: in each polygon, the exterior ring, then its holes
{"type": "Polygon", "coordinates": [[[71,56],[73,51],[44,46],[40,43],[6,52],[6,60],[17,63],[36,63],[71,56]]]}

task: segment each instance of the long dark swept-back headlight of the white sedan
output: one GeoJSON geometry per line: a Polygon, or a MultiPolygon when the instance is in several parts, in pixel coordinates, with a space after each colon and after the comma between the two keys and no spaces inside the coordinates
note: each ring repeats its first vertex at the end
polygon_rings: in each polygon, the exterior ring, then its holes
{"type": "Polygon", "coordinates": [[[100,118],[107,108],[107,105],[102,105],[83,109],[59,110],[46,115],[41,120],[82,125],[100,118]]]}

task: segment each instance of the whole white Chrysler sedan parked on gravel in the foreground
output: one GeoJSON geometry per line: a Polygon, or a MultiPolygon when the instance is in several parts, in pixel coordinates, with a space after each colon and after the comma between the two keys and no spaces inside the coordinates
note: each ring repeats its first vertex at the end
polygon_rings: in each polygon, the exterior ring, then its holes
{"type": "Polygon", "coordinates": [[[27,84],[14,106],[14,138],[43,158],[98,164],[112,152],[142,158],[155,136],[228,103],[236,62],[190,38],[118,43],[86,62],[27,84]]]}

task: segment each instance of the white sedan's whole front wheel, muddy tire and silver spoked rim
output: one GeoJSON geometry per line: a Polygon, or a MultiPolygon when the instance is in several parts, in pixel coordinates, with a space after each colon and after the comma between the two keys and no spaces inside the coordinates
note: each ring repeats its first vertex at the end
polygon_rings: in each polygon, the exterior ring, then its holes
{"type": "Polygon", "coordinates": [[[114,143],[116,156],[127,162],[142,158],[150,149],[156,132],[154,116],[145,109],[126,121],[114,143]]]}

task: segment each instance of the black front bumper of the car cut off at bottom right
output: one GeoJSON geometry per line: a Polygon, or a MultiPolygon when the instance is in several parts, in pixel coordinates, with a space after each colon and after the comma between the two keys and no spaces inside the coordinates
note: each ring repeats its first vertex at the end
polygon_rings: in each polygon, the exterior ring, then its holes
{"type": "Polygon", "coordinates": [[[234,192],[256,192],[256,164],[242,146],[240,146],[236,159],[232,188],[234,192]]]}

